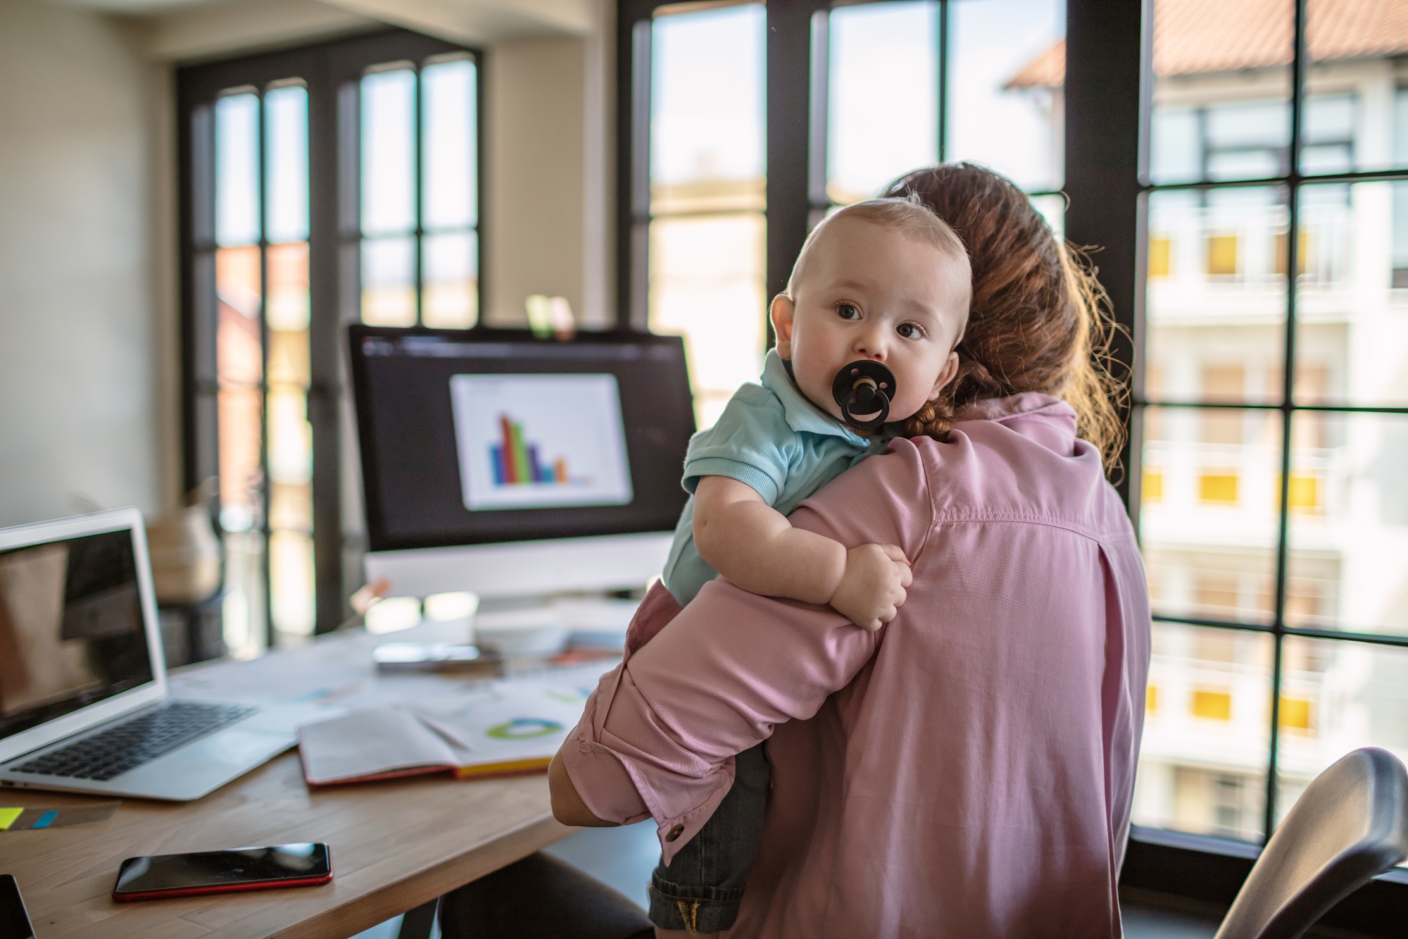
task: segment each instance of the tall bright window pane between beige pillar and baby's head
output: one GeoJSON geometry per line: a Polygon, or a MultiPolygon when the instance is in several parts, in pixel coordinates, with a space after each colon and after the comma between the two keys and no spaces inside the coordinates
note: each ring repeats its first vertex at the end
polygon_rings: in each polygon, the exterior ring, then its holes
{"type": "Polygon", "coordinates": [[[649,24],[649,329],[684,336],[696,422],[763,367],[765,11],[662,10],[649,24]]]}

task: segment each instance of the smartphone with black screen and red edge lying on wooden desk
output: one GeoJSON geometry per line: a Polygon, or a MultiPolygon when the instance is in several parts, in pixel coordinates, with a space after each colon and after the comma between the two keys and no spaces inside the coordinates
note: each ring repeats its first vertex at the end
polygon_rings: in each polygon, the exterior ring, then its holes
{"type": "Polygon", "coordinates": [[[332,880],[327,845],[234,847],[197,854],[128,857],[117,871],[113,900],[161,900],[242,890],[315,887],[332,880]]]}

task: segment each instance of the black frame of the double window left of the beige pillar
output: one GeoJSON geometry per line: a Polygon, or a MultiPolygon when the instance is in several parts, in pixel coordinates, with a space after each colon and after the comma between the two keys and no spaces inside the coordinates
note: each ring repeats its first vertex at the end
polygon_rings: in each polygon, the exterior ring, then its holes
{"type": "MultiPolygon", "coordinates": [[[[484,52],[401,28],[344,35],[297,48],[186,65],[176,69],[177,186],[180,243],[182,477],[187,489],[220,477],[215,371],[214,271],[199,269],[214,250],[214,102],[228,89],[297,76],[308,93],[308,423],[313,427],[314,634],[328,633],[351,615],[348,595],[362,582],[365,546],[344,530],[344,451],[352,422],[345,416],[351,389],[345,327],[360,323],[360,94],[366,69],[413,62],[417,73],[431,56],[465,54],[476,75],[476,185],[479,310],[484,297],[484,52]]],[[[417,106],[417,128],[420,127],[417,106]]],[[[420,159],[417,159],[417,259],[420,258],[420,159]]],[[[262,207],[260,207],[262,211],[262,207]]],[[[266,247],[260,230],[260,250],[266,247]]],[[[417,264],[417,319],[421,269],[417,264]]],[[[268,355],[268,326],[265,352],[268,355]]],[[[268,389],[268,375],[260,378],[268,389]]],[[[268,431],[263,431],[268,433],[268,431]]],[[[268,454],[260,454],[268,464],[268,454]]],[[[268,470],[268,467],[266,467],[268,470]]],[[[269,489],[265,485],[268,506],[269,489]]],[[[262,530],[268,537],[269,519],[262,530]]],[[[268,550],[265,556],[268,582],[268,550]]],[[[265,591],[266,643],[275,647],[275,622],[265,591]]]]}

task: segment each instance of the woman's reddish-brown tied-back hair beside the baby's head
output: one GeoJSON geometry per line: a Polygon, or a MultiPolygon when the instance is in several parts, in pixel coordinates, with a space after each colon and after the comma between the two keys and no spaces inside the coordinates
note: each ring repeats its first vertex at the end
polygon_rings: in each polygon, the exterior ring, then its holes
{"type": "Polygon", "coordinates": [[[967,247],[973,299],[959,371],[904,430],[946,438],[953,412],[984,398],[1043,392],[1076,410],[1077,433],[1112,468],[1125,441],[1125,388],[1110,372],[1117,329],[1083,254],[1063,244],[1008,179],[972,164],[918,169],[888,197],[924,200],[967,247]]]}

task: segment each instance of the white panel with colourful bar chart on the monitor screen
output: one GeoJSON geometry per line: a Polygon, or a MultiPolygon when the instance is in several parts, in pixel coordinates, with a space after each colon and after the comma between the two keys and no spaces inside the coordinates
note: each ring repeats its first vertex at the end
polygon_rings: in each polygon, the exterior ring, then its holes
{"type": "Polygon", "coordinates": [[[631,502],[614,375],[455,375],[449,391],[470,512],[631,502]]]}

